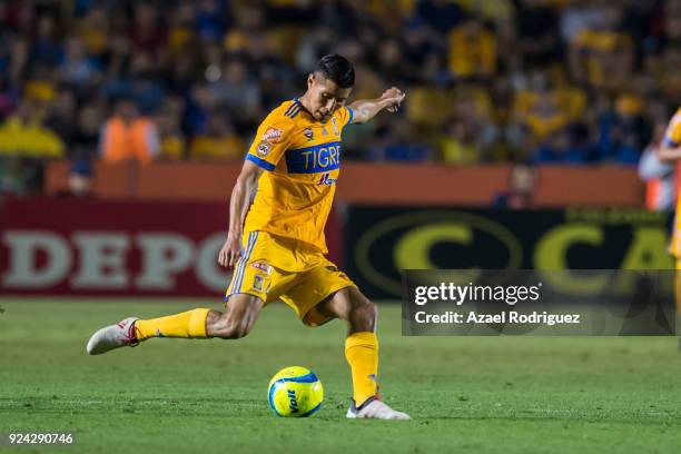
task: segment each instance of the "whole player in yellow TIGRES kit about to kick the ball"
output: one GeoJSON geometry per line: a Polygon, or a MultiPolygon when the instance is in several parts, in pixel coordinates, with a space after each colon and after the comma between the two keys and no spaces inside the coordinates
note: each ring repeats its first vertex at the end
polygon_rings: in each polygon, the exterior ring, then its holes
{"type": "Polygon", "coordinates": [[[151,337],[237,339],[250,332],[263,307],[280,299],[308,326],[333,318],[347,323],[345,356],[353,377],[347,417],[409,418],[378,398],[376,306],[324,256],[343,129],[382,110],[397,111],[405,97],[393,87],[381,98],[346,106],[354,83],[351,62],[326,56],[308,76],[305,95],[283,102],[258,128],[231,193],[229,231],[218,256],[220,265],[235,268],[226,310],[126,318],[95,333],[88,354],[136,346],[151,337]]]}

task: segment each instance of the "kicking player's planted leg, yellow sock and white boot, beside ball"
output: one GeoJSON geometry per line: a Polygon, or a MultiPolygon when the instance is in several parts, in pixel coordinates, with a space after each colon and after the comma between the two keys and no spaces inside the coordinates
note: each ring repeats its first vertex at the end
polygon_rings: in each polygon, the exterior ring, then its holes
{"type": "Polygon", "coordinates": [[[378,339],[376,338],[376,305],[357,287],[345,287],[315,307],[322,315],[347,322],[345,357],[353,374],[353,402],[349,418],[409,420],[378,397],[378,339]]]}

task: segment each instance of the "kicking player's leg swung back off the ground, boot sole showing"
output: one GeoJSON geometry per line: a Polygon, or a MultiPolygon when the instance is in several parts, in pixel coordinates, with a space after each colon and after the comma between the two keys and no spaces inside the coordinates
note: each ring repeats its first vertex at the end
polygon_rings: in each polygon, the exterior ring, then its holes
{"type": "Polygon", "coordinates": [[[237,294],[229,298],[224,313],[199,308],[149,320],[129,317],[99,329],[86,349],[89,355],[99,355],[114,348],[135,347],[151,337],[238,339],[250,332],[263,305],[256,296],[237,294]]]}

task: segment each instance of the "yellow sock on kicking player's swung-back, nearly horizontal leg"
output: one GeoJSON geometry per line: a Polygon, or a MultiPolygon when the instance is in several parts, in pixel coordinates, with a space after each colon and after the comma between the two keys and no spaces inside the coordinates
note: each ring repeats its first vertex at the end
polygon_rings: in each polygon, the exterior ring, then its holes
{"type": "Polygon", "coordinates": [[[138,340],[149,337],[206,338],[206,318],[210,309],[194,309],[167,317],[135,322],[138,340]]]}

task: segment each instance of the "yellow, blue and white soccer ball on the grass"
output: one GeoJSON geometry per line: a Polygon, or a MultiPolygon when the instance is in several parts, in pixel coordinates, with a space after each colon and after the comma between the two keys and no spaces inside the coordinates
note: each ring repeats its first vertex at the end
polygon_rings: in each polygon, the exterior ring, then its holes
{"type": "Polygon", "coordinates": [[[272,377],[267,395],[269,406],[277,416],[306,417],[322,407],[324,388],[314,372],[292,366],[272,377]]]}

